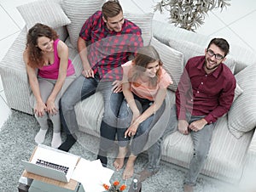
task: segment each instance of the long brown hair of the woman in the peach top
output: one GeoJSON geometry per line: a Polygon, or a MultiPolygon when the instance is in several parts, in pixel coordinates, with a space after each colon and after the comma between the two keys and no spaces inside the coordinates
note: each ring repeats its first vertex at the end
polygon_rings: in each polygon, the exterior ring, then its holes
{"type": "MultiPolygon", "coordinates": [[[[158,54],[158,52],[153,46],[148,45],[148,46],[139,48],[137,50],[137,54],[135,58],[132,60],[134,67],[132,68],[131,71],[129,71],[128,81],[133,83],[135,86],[138,86],[137,79],[139,78],[139,76],[141,76],[141,74],[144,71],[146,71],[146,68],[149,63],[153,63],[157,60],[159,61],[160,66],[163,65],[163,62],[160,59],[160,55],[158,54]]],[[[157,82],[159,82],[160,75],[161,75],[161,70],[159,69],[156,72],[156,76],[154,76],[154,78],[150,78],[150,85],[152,87],[155,87],[157,82]]]]}

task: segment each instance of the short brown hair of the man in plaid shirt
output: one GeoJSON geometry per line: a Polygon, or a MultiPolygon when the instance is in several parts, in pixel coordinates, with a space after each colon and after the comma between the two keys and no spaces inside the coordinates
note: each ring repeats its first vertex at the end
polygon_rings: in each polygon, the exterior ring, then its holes
{"type": "Polygon", "coordinates": [[[123,9],[118,0],[109,0],[102,5],[102,15],[105,20],[108,20],[108,17],[115,17],[120,12],[123,12],[123,9]]]}

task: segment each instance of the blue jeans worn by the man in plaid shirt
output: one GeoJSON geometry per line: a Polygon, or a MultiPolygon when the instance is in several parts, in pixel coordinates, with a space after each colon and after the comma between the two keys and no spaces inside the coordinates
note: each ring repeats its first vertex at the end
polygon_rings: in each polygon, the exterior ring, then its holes
{"type": "Polygon", "coordinates": [[[111,147],[116,134],[116,121],[119,114],[119,107],[124,99],[123,93],[113,93],[111,88],[113,82],[100,82],[98,74],[94,78],[86,78],[80,75],[67,88],[60,101],[61,124],[67,134],[75,133],[79,130],[74,110],[75,104],[79,103],[90,95],[100,91],[104,101],[104,114],[101,124],[101,144],[100,149],[108,150],[111,147]]]}

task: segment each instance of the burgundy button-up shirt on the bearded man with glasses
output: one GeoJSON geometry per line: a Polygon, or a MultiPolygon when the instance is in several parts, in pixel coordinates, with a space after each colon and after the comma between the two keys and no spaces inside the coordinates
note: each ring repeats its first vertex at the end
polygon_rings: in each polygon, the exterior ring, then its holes
{"type": "Polygon", "coordinates": [[[189,59],[176,91],[178,119],[186,119],[186,112],[192,116],[205,116],[207,123],[223,116],[233,102],[236,88],[235,76],[229,67],[221,63],[211,74],[203,69],[205,56],[189,59]]]}

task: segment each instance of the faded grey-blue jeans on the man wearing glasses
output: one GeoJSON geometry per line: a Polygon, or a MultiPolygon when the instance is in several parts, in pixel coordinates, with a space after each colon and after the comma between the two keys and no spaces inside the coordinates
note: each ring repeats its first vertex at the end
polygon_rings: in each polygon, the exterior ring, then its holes
{"type": "MultiPolygon", "coordinates": [[[[200,120],[204,116],[190,116],[187,114],[187,119],[189,119],[189,124],[193,121],[200,120]]],[[[201,172],[202,167],[205,164],[207,155],[211,145],[212,131],[215,124],[207,124],[200,131],[191,131],[191,137],[194,144],[194,155],[190,161],[189,172],[184,180],[185,184],[195,185],[196,179],[201,172]]],[[[166,127],[163,136],[148,149],[148,171],[157,172],[160,170],[160,157],[161,157],[161,144],[163,139],[170,133],[177,130],[177,114],[176,105],[173,105],[171,110],[171,118],[168,121],[168,126],[166,127]]]]}

